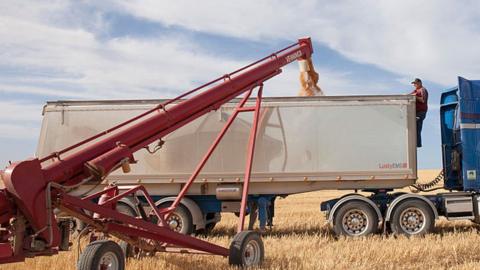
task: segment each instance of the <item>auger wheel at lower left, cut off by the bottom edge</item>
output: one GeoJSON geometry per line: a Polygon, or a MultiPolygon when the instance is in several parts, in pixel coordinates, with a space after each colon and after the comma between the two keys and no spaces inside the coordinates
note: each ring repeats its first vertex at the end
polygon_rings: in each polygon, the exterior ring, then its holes
{"type": "Polygon", "coordinates": [[[124,270],[125,257],[120,246],[110,240],[90,243],[80,255],[77,270],[124,270]]]}

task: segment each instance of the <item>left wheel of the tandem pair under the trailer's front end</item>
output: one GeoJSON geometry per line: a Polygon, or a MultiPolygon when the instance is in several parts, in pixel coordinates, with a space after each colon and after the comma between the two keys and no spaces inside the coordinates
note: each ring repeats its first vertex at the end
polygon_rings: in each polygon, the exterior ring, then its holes
{"type": "Polygon", "coordinates": [[[378,220],[375,210],[368,203],[350,201],[335,212],[333,230],[338,236],[365,236],[377,232],[378,220]]]}

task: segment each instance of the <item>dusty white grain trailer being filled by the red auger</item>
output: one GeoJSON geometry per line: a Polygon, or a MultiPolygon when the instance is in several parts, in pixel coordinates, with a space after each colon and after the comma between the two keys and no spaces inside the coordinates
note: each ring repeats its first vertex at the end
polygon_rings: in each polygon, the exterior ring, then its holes
{"type": "MultiPolygon", "coordinates": [[[[43,110],[37,156],[75,144],[160,102],[48,102],[43,110]]],[[[113,173],[106,182],[141,183],[155,196],[157,205],[171,203],[235,103],[200,117],[138,152],[130,173],[113,173]]],[[[181,224],[177,230],[188,233],[209,229],[219,221],[220,212],[239,211],[251,123],[250,113],[235,120],[177,209],[178,222],[174,225],[181,224]]],[[[266,197],[273,202],[280,195],[326,189],[378,194],[412,185],[417,179],[415,128],[412,96],[265,98],[249,199],[266,197]]],[[[75,193],[102,188],[84,185],[75,193]]],[[[133,202],[124,203],[134,209],[133,202]]],[[[378,218],[374,221],[379,223],[382,214],[378,207],[375,210],[378,218]]]]}

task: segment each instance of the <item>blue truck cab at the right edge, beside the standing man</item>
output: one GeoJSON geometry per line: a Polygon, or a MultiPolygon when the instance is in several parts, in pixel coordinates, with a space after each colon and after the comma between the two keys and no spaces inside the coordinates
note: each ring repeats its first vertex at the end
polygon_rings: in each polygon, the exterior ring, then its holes
{"type": "Polygon", "coordinates": [[[445,189],[480,190],[480,81],[458,77],[440,99],[445,189]]]}

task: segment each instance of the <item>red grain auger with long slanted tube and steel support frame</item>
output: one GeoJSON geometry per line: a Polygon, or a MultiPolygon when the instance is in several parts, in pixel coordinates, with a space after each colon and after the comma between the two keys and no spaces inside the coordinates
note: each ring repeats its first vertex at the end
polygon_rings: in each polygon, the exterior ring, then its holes
{"type": "MultiPolygon", "coordinates": [[[[176,233],[168,228],[166,217],[178,206],[188,188],[225,135],[236,116],[241,112],[254,112],[248,142],[247,162],[243,181],[240,221],[238,231],[243,230],[245,209],[258,128],[263,82],[278,75],[281,67],[297,59],[306,59],[313,53],[309,38],[299,41],[255,63],[218,78],[179,97],[160,104],[135,118],[99,133],[78,144],[53,153],[42,159],[16,162],[0,171],[5,189],[0,189],[0,264],[22,261],[25,257],[53,255],[58,252],[61,241],[53,208],[59,208],[71,216],[78,217],[93,229],[114,235],[136,246],[142,240],[143,248],[167,251],[175,245],[197,251],[228,256],[229,250],[176,233]],[[208,89],[198,93],[200,90],[208,89]],[[245,107],[253,89],[259,87],[255,106],[245,107]],[[183,99],[197,93],[189,99],[183,99]],[[148,147],[166,134],[188,124],[238,95],[246,93],[230,116],[204,158],[200,161],[187,184],[179,193],[174,204],[167,209],[157,209],[143,186],[133,187],[119,193],[115,186],[77,198],[67,191],[86,183],[104,179],[108,174],[128,163],[133,163],[133,153],[148,147]],[[174,102],[176,102],[174,104],[174,102]],[[167,105],[173,105],[169,106],[167,105]],[[78,147],[82,146],[81,149],[78,147]],[[75,150],[75,151],[73,151],[75,150]],[[47,161],[50,161],[48,164],[47,161]],[[158,224],[149,220],[130,217],[115,210],[116,202],[127,195],[143,193],[158,224]],[[99,198],[99,203],[91,199],[99,198]],[[94,215],[87,215],[88,210],[94,215]],[[14,246],[10,242],[14,238],[14,246]],[[34,248],[36,242],[44,242],[42,250],[34,248]]],[[[42,247],[42,245],[40,245],[42,247]]]]}

